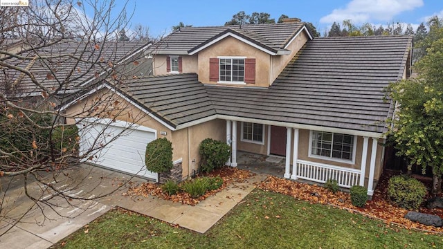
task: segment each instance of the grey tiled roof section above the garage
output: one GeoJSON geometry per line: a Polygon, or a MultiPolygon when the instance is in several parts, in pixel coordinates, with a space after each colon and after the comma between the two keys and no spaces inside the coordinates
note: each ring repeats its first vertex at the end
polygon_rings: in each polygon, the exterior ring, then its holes
{"type": "Polygon", "coordinates": [[[174,128],[215,115],[205,87],[195,73],[125,80],[123,87],[116,90],[174,128]]]}

